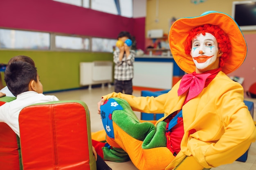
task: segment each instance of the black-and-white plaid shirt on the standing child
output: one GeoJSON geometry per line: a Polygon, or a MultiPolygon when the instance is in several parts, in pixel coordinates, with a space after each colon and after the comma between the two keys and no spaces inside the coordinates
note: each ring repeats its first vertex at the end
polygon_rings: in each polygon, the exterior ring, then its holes
{"type": "Polygon", "coordinates": [[[119,50],[114,52],[115,74],[114,78],[119,81],[131,80],[133,78],[133,62],[135,58],[135,51],[130,50],[130,55],[124,57],[119,61],[119,50]]]}

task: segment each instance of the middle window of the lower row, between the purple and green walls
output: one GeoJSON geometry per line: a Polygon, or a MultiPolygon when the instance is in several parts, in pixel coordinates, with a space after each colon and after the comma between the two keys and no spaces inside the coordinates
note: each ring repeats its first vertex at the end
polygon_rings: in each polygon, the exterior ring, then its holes
{"type": "Polygon", "coordinates": [[[89,44],[89,38],[62,35],[55,36],[55,47],[57,49],[89,50],[89,44]]]}

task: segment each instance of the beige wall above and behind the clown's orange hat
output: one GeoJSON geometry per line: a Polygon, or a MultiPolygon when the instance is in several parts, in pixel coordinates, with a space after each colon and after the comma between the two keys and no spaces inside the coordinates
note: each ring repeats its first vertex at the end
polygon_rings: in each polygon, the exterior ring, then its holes
{"type": "MultiPolygon", "coordinates": [[[[194,17],[201,15],[205,11],[220,11],[231,15],[233,1],[206,0],[200,4],[193,4],[191,0],[147,0],[145,33],[151,29],[163,29],[164,33],[169,33],[169,20],[173,17],[176,19],[194,17]],[[158,20],[158,22],[155,22],[155,20],[158,20]]],[[[256,31],[244,31],[243,33],[256,33],[256,31]]]]}

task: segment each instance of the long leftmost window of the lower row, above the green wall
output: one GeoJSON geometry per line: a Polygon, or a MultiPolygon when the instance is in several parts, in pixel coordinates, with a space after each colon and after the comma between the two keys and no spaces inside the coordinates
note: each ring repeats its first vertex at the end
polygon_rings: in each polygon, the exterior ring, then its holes
{"type": "Polygon", "coordinates": [[[0,48],[48,50],[50,48],[50,34],[0,29],[0,48]]]}

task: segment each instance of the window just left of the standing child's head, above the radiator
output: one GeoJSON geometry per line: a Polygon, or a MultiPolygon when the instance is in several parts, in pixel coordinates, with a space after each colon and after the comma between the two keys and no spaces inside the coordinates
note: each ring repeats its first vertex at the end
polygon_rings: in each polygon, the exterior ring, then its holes
{"type": "Polygon", "coordinates": [[[116,39],[92,38],[93,52],[113,52],[116,46],[116,39]]]}

